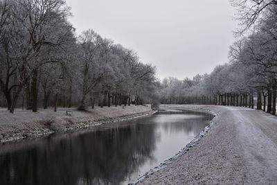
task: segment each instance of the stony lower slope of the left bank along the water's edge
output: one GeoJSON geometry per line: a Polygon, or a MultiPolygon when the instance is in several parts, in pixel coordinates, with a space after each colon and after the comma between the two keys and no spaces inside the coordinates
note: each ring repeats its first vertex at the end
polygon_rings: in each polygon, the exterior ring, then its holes
{"type": "Polygon", "coordinates": [[[110,116],[94,120],[93,118],[90,119],[83,117],[69,117],[62,120],[49,117],[42,121],[0,125],[0,143],[15,142],[24,139],[35,139],[42,136],[48,136],[49,134],[57,132],[74,132],[78,130],[85,130],[105,123],[113,123],[118,121],[129,120],[132,118],[149,116],[156,112],[157,111],[154,110],[148,110],[146,112],[138,112],[134,114],[127,114],[114,117],[110,116]]]}

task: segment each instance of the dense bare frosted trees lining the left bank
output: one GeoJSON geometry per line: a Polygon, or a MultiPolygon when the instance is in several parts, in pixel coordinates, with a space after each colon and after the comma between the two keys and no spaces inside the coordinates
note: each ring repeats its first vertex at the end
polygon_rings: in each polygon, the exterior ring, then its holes
{"type": "Polygon", "coordinates": [[[93,30],[80,35],[64,0],[0,1],[0,107],[150,102],[156,69],[93,30]]]}

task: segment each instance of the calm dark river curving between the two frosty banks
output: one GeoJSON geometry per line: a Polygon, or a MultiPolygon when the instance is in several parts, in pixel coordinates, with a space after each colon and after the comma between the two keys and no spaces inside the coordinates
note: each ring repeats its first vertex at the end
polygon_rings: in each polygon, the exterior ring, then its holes
{"type": "Polygon", "coordinates": [[[0,146],[0,184],[128,184],[184,148],[211,115],[159,112],[0,146]]]}

